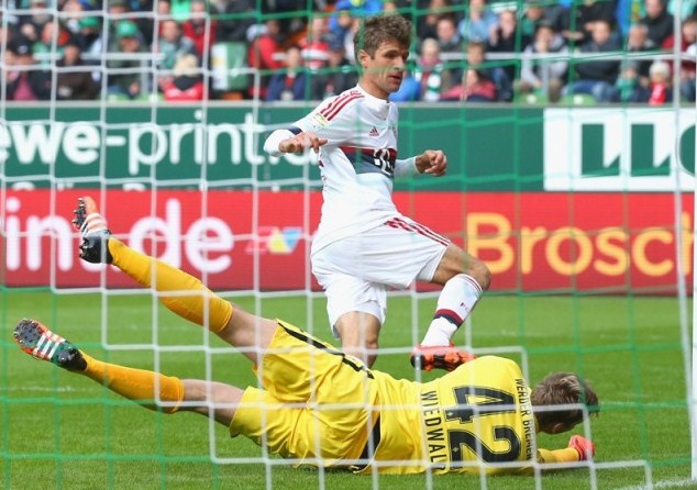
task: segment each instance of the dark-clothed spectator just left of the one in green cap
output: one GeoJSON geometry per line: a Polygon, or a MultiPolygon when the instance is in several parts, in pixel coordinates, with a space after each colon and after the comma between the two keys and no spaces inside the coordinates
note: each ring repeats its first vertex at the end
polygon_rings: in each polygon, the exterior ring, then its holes
{"type": "Polygon", "coordinates": [[[58,68],[57,100],[95,100],[97,98],[101,87],[95,75],[99,73],[82,60],[82,46],[77,38],[68,41],[63,57],[56,66],[58,68]]]}

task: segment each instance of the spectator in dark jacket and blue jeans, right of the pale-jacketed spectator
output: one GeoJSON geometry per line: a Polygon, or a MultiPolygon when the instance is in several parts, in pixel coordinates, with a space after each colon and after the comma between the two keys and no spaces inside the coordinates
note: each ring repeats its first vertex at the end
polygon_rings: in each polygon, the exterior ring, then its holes
{"type": "MultiPolygon", "coordinates": [[[[582,53],[610,53],[621,49],[607,21],[596,21],[593,37],[580,47],[582,53]]],[[[575,64],[576,79],[566,86],[566,93],[588,93],[597,102],[609,102],[615,99],[615,83],[619,75],[619,59],[578,60],[575,64]]]]}

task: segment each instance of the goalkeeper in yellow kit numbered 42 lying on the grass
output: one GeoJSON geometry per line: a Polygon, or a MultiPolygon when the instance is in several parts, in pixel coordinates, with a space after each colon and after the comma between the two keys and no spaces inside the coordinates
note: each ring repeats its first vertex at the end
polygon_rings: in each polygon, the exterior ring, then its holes
{"type": "Polygon", "coordinates": [[[516,363],[486,356],[434,381],[397,380],[281,320],[253,315],[192,276],[128,247],[111,235],[92,199],[81,199],[76,215],[82,259],[114,265],[154,288],[173,312],[237,347],[254,364],[262,388],[103,363],[24,319],[14,338],[36,358],[144,407],[213,417],[231,436],[245,435],[297,464],[358,474],[511,474],[530,471],[535,461],[585,460],[595,452],[582,436],[562,449],[535,445],[538,432],[565,432],[597,412],[596,393],[574,374],[550,375],[531,390],[516,363]]]}

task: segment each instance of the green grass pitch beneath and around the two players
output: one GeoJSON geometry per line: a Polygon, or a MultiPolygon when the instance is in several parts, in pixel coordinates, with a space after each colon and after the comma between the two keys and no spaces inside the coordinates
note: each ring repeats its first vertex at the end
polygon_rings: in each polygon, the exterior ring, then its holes
{"type": "MultiPolygon", "coordinates": [[[[93,356],[179,377],[204,377],[206,355],[186,345],[206,342],[200,327],[158,307],[151,296],[65,294],[0,290],[0,487],[11,489],[641,489],[649,476],[661,489],[697,488],[689,482],[689,423],[685,366],[675,298],[593,296],[487,296],[472,321],[474,347],[485,352],[521,346],[530,381],[554,370],[583,374],[599,393],[602,411],[591,421],[597,468],[532,477],[359,477],[342,471],[291,468],[251,442],[230,439],[222,426],[200,415],[163,415],[143,410],[79,376],[35,361],[13,344],[22,316],[34,316],[93,356]],[[156,318],[156,328],[153,319],[156,318]],[[102,321],[109,328],[104,349],[102,321]],[[155,355],[148,346],[166,346],[155,355]],[[140,345],[126,350],[126,345],[140,345]],[[209,443],[211,434],[212,443],[209,443]],[[221,460],[211,463],[211,447],[221,460]],[[635,461],[634,466],[620,464],[635,461]],[[642,465],[641,461],[645,461],[642,465]],[[266,464],[265,464],[266,463],[266,464]]],[[[324,301],[233,298],[262,313],[305,326],[331,341],[324,301]]],[[[406,352],[428,324],[435,300],[389,301],[377,369],[413,378],[406,352]],[[421,325],[412,332],[412,315],[421,325]]],[[[458,343],[464,336],[458,333],[458,343]]],[[[215,380],[254,382],[248,363],[217,338],[209,365],[215,380]]],[[[521,359],[520,353],[510,356],[521,359]]],[[[427,374],[423,379],[434,375],[427,374]]],[[[580,433],[579,428],[576,433],[580,433]]],[[[561,447],[568,434],[542,436],[561,447]]]]}

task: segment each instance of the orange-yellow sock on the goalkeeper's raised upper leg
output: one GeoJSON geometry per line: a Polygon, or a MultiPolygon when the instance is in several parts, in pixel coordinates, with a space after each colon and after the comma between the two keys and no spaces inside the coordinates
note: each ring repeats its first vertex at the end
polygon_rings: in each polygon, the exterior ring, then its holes
{"type": "Polygon", "coordinates": [[[208,326],[213,333],[222,331],[230,322],[232,304],[213,293],[193,276],[141,254],[113,237],[109,238],[109,252],[113,257],[112,264],[140,285],[146,288],[154,286],[158,292],[177,292],[176,296],[161,294],[159,300],[179,316],[208,326]],[[191,293],[181,294],[186,291],[191,293]]]}

